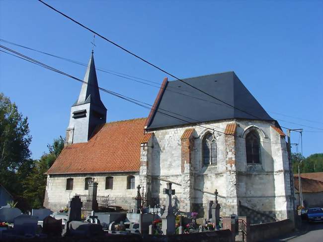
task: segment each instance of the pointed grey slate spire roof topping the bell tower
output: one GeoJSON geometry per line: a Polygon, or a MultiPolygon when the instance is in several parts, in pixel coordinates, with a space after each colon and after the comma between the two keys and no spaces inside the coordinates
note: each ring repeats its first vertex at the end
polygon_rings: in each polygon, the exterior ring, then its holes
{"type": "Polygon", "coordinates": [[[98,89],[93,52],[88,62],[83,81],[85,81],[87,84],[82,83],[79,99],[73,104],[73,106],[91,102],[97,106],[105,108],[101,101],[100,92],[98,89]]]}

